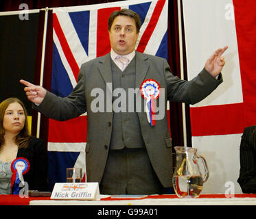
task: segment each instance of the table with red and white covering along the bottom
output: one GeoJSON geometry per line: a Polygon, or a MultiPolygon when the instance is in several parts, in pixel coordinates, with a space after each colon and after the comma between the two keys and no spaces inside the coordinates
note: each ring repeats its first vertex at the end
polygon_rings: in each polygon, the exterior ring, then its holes
{"type": "Polygon", "coordinates": [[[177,198],[175,194],[150,195],[143,198],[101,196],[100,201],[60,201],[50,197],[20,198],[19,195],[0,195],[0,205],[256,205],[256,194],[201,194],[199,198],[177,198]]]}

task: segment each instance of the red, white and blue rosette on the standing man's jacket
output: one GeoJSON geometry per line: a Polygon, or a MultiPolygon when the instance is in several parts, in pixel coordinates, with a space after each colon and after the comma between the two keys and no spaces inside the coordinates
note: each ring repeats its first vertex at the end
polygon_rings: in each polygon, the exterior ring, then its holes
{"type": "Polygon", "coordinates": [[[154,79],[146,79],[141,83],[141,95],[146,99],[145,110],[148,118],[148,123],[151,126],[156,125],[154,115],[156,112],[156,99],[159,98],[160,86],[154,79]]]}

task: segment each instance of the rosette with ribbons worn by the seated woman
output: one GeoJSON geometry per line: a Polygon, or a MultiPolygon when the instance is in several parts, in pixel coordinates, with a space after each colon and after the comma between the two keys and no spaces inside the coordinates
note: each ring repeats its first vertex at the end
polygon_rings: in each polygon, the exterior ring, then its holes
{"type": "Polygon", "coordinates": [[[17,157],[11,164],[11,194],[19,194],[19,184],[24,183],[23,175],[30,170],[30,162],[24,157],[17,157]]]}

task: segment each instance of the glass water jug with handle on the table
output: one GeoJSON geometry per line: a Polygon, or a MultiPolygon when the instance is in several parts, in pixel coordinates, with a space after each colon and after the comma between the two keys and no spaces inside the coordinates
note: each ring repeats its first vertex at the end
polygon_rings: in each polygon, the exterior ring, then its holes
{"type": "Polygon", "coordinates": [[[196,155],[197,149],[175,146],[176,167],[172,177],[174,191],[179,198],[197,198],[202,192],[202,185],[209,177],[207,162],[204,157],[196,155]],[[202,177],[198,160],[202,161],[205,175],[202,177]]]}

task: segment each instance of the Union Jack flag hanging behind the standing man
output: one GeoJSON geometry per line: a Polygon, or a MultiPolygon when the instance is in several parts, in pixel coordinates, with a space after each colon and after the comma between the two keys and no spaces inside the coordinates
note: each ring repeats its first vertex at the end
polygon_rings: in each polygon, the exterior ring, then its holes
{"type": "MultiPolygon", "coordinates": [[[[137,51],[167,59],[167,0],[132,0],[54,8],[51,92],[68,96],[82,63],[110,52],[108,17],[121,8],[141,17],[137,51]]],[[[49,120],[49,184],[66,181],[66,168],[83,168],[86,181],[86,114],[58,122],[49,120]]],[[[100,137],[99,137],[100,138],[100,137]]]]}

